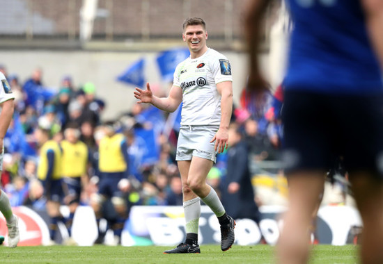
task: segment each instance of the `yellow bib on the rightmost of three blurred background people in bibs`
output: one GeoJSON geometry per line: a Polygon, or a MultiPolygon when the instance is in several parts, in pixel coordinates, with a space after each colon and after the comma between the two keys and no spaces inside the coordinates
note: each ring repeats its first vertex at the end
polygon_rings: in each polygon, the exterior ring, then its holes
{"type": "Polygon", "coordinates": [[[98,149],[100,172],[125,172],[127,170],[127,164],[121,151],[123,140],[125,137],[121,133],[112,135],[110,138],[106,136],[100,140],[98,149]]]}

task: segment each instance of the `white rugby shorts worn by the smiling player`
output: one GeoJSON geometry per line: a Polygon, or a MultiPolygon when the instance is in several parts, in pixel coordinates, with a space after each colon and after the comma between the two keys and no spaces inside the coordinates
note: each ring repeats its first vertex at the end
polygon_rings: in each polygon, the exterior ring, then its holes
{"type": "Polygon", "coordinates": [[[175,160],[192,160],[193,156],[216,162],[217,151],[214,142],[210,142],[219,126],[181,126],[178,135],[175,160]]]}

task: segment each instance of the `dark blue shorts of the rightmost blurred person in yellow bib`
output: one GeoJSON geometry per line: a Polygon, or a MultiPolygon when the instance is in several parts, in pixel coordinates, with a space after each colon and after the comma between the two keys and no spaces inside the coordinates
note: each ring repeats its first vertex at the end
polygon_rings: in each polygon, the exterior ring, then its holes
{"type": "Polygon", "coordinates": [[[98,193],[105,197],[123,197],[123,192],[118,188],[118,182],[125,179],[125,172],[103,172],[98,183],[98,193]]]}

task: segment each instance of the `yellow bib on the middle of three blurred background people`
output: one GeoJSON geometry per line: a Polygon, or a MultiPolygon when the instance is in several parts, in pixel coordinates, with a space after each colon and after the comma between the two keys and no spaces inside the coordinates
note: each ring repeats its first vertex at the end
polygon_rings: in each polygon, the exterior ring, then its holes
{"type": "Polygon", "coordinates": [[[61,172],[65,177],[79,177],[86,173],[88,163],[88,147],[84,142],[75,144],[68,140],[61,141],[63,156],[61,158],[61,172]]]}

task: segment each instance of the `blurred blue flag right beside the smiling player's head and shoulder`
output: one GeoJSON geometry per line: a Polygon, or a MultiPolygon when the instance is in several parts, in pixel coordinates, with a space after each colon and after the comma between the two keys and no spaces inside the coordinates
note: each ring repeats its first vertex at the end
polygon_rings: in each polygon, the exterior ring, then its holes
{"type": "Polygon", "coordinates": [[[162,80],[165,82],[173,81],[175,67],[190,56],[189,49],[178,48],[162,51],[157,56],[157,64],[161,72],[162,80]]]}

